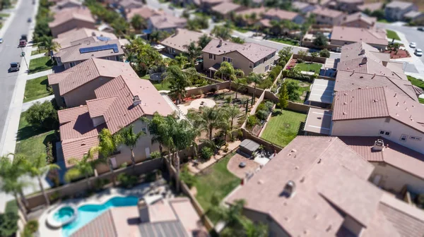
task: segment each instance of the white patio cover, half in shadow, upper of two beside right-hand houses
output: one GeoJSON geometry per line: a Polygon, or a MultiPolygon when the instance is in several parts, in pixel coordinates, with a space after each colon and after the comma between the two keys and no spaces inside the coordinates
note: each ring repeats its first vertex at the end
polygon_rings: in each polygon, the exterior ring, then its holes
{"type": "Polygon", "coordinates": [[[315,79],[308,100],[324,104],[333,103],[334,80],[315,79]]]}

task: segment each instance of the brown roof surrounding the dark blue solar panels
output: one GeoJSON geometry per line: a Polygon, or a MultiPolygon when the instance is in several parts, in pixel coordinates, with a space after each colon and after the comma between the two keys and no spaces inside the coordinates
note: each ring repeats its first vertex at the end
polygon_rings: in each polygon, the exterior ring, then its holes
{"type": "Polygon", "coordinates": [[[91,58],[105,58],[107,56],[121,56],[124,55],[124,50],[121,48],[119,39],[112,39],[110,41],[98,41],[98,42],[81,42],[74,46],[60,49],[59,53],[54,54],[55,57],[59,57],[62,63],[68,63],[73,61],[83,61],[91,58]],[[98,47],[110,44],[117,44],[118,51],[115,52],[113,49],[106,49],[100,51],[92,51],[88,53],[82,53],[80,49],[88,47],[98,47]]]}

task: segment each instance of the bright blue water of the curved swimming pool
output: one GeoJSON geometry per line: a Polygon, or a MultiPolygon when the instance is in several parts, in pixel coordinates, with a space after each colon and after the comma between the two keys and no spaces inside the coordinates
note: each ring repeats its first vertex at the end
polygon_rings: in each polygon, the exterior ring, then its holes
{"type": "Polygon", "coordinates": [[[70,236],[73,232],[77,231],[111,207],[136,206],[137,202],[139,202],[139,197],[128,196],[112,197],[102,205],[82,205],[78,207],[78,217],[76,220],[62,227],[62,236],[70,236]]]}

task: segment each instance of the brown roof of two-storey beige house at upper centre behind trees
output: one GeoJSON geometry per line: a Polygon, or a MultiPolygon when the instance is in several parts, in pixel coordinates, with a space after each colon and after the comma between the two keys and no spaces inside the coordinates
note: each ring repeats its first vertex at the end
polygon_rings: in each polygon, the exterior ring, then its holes
{"type": "Polygon", "coordinates": [[[272,49],[261,44],[254,43],[236,44],[233,42],[223,41],[221,46],[219,46],[219,44],[220,41],[218,39],[212,39],[211,42],[209,42],[209,44],[203,49],[203,52],[220,55],[237,51],[239,54],[242,54],[242,56],[249,59],[249,61],[256,63],[277,51],[277,49],[272,49]]]}

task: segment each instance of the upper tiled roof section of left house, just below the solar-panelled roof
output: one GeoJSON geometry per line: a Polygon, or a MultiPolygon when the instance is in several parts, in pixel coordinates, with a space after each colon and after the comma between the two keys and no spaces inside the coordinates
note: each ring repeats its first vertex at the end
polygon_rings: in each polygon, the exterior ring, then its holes
{"type": "Polygon", "coordinates": [[[47,75],[47,78],[49,85],[59,84],[60,95],[65,95],[95,78],[116,78],[118,75],[136,77],[137,73],[129,63],[106,59],[88,59],[62,73],[47,75]]]}

